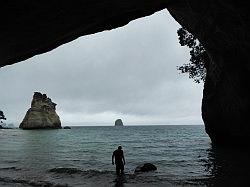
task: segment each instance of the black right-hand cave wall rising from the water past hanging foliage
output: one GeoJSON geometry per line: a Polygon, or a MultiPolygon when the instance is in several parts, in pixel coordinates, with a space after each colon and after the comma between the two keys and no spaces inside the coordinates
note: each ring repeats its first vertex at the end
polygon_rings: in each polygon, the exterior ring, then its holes
{"type": "Polygon", "coordinates": [[[249,6],[246,1],[182,1],[171,15],[205,46],[210,62],[202,117],[217,145],[250,145],[249,6]]]}

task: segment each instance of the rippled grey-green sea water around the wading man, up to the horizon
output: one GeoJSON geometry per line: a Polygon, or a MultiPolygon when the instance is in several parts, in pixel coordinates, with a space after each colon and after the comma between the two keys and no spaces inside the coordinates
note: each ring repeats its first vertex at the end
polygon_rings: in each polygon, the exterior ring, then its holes
{"type": "Polygon", "coordinates": [[[0,130],[0,186],[220,186],[250,176],[249,155],[212,146],[202,125],[0,130]],[[125,175],[111,156],[123,147],[125,175]],[[152,163],[156,171],[135,174],[152,163]]]}

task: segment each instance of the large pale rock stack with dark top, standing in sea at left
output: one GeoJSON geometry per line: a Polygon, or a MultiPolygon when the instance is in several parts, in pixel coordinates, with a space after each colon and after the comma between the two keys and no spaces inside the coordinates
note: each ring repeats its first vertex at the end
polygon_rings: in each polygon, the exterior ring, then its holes
{"type": "Polygon", "coordinates": [[[56,103],[46,94],[35,92],[31,108],[27,111],[19,128],[21,129],[59,129],[61,121],[56,113],[56,103]]]}

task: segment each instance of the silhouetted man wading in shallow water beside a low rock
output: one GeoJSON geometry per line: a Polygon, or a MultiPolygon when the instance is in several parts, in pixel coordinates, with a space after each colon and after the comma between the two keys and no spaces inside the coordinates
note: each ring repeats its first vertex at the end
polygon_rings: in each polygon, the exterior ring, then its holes
{"type": "Polygon", "coordinates": [[[112,164],[114,165],[114,158],[115,158],[115,165],[116,165],[116,174],[124,174],[124,165],[125,165],[125,158],[122,150],[122,146],[118,146],[113,152],[112,155],[112,164]]]}

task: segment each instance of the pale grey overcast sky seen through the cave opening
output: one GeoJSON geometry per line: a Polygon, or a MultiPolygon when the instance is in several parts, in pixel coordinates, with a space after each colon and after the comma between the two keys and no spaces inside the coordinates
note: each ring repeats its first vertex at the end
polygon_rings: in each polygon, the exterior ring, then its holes
{"type": "Polygon", "coordinates": [[[18,125],[39,91],[63,125],[202,124],[203,84],[176,69],[189,60],[178,28],[163,10],[0,68],[0,110],[18,125]]]}

